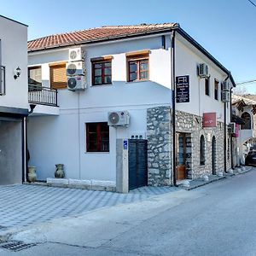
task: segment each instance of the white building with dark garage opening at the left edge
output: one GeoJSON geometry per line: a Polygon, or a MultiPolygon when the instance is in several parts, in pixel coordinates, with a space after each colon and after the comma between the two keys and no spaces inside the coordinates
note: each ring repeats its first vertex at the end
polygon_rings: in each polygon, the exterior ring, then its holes
{"type": "Polygon", "coordinates": [[[26,169],[27,26],[0,15],[0,184],[26,169]]]}

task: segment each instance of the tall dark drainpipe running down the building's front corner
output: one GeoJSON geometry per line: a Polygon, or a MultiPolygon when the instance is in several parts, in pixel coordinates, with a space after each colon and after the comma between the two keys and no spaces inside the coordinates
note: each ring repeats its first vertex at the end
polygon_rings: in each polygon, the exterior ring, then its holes
{"type": "Polygon", "coordinates": [[[175,116],[175,31],[172,31],[171,35],[171,65],[172,65],[172,173],[173,173],[173,185],[177,187],[177,172],[176,172],[176,116],[175,116]]]}

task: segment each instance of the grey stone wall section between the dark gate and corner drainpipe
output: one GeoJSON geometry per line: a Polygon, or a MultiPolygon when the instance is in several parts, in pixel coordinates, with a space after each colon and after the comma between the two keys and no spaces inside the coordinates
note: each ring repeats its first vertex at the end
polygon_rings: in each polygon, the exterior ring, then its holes
{"type": "Polygon", "coordinates": [[[172,121],[170,107],[148,108],[148,185],[172,183],[172,121]]]}

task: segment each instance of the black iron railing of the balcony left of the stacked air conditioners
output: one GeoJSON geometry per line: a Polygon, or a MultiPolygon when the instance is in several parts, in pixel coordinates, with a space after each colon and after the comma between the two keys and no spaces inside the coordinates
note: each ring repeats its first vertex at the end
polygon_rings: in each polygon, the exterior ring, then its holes
{"type": "Polygon", "coordinates": [[[58,91],[41,85],[28,84],[28,102],[58,107],[58,91]]]}

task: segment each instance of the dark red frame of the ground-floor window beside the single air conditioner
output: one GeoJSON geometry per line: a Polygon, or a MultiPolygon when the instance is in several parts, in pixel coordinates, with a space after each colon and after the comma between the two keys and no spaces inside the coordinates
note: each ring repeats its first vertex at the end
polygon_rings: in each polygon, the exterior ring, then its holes
{"type": "Polygon", "coordinates": [[[91,122],[91,123],[85,123],[85,139],[86,139],[86,152],[88,153],[109,153],[110,151],[110,137],[109,137],[109,125],[108,122],[91,122]],[[90,125],[96,125],[96,132],[95,131],[89,131],[90,125]],[[108,131],[102,131],[102,125],[108,126],[108,131]],[[90,149],[90,134],[96,133],[96,148],[90,149]],[[108,149],[103,149],[103,143],[102,143],[102,134],[107,133],[108,134],[108,149]]]}

